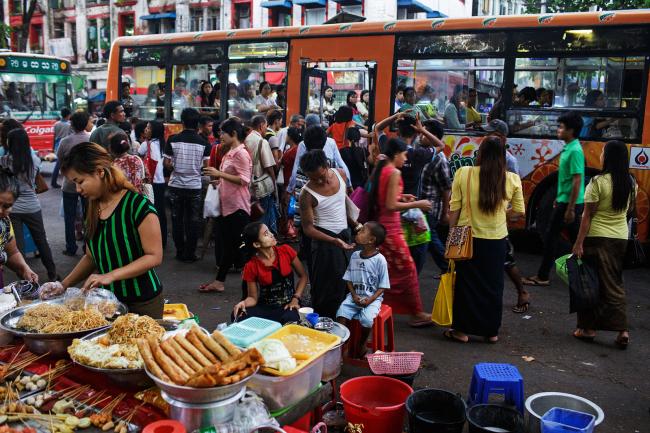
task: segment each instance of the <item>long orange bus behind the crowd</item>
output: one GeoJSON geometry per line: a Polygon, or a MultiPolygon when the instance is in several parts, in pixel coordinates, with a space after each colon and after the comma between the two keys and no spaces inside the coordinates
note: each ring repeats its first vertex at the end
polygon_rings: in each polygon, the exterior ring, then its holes
{"type": "MultiPolygon", "coordinates": [[[[129,82],[134,114],[164,119],[171,131],[187,106],[222,119],[249,118],[262,81],[285,98],[287,119],[308,112],[326,116],[349,91],[368,90],[369,123],[398,109],[399,86],[413,88],[410,102],[440,117],[456,89],[474,89],[480,123],[492,111],[510,126],[526,225],[540,231],[549,218],[563,146],[555,137],[556,119],[577,110],[585,120],[588,175],[597,172],[605,141],[629,143],[645,240],[649,67],[649,10],[277,27],[119,38],[111,49],[107,99],[120,99],[121,84],[129,82]],[[210,107],[198,97],[204,81],[218,89],[210,107]],[[531,90],[532,103],[514,96],[531,90]]],[[[480,140],[469,129],[446,130],[452,170],[472,163],[480,140]]]]}

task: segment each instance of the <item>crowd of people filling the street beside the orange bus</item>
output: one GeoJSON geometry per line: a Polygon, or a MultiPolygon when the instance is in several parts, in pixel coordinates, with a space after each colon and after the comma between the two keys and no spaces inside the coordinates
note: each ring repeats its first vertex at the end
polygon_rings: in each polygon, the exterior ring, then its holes
{"type": "MultiPolygon", "coordinates": [[[[598,330],[616,331],[616,343],[627,346],[622,261],[636,185],[622,142],[605,145],[602,174],[585,191],[578,140],[583,120],[576,114],[559,118],[558,138],[566,144],[544,255],[537,274],[522,278],[507,223],[522,218],[525,206],[516,159],[506,148],[505,122],[494,119],[482,126],[488,134],[475,165],[459,169],[452,179],[444,125],[436,120],[435,105],[414,103],[413,88],[401,89],[404,99],[396,114],[374,127],[355,120],[367,116],[359,106],[364,94],[360,100],[356,93],[348,95],[327,127],[315,113],[294,115],[283,126],[266,85],[260,89],[257,111],[263,114],[246,122],[231,116],[215,125],[213,118],[184,107],[183,129],[169,137],[160,121],[128,122],[121,101],[107,102],[103,119],[94,123],[86,112],[62,111],[55,130],[64,176],[64,254],[77,255],[77,226],[84,221],[82,256],[64,278],[57,274],[36,194],[40,160],[20,123],[5,120],[0,128],[6,149],[0,157],[2,264],[23,278],[38,278],[18,252],[24,224],[47,269],[48,293],[78,284],[109,288],[130,310],[161,317],[163,284],[155,268],[168,250],[169,213],[179,262],[200,259],[201,233],[207,233],[204,247],[214,242],[218,271],[198,290],[224,292],[228,274],[241,273],[233,319],[292,322],[298,308],[309,304],[342,323],[359,319],[367,336],[382,303],[408,315],[412,327],[432,325],[420,293],[435,283],[421,288],[418,278],[426,255],[440,273],[448,272],[446,227],[471,226],[473,255],[455,263],[453,323],[444,337],[466,343],[478,336],[496,343],[504,273],[518,291],[513,311],[525,313],[531,300],[524,285],[550,284],[559,233],[568,228],[573,253],[596,264],[601,290],[598,306],[578,313],[573,335],[590,340],[598,330]],[[218,193],[220,215],[203,218],[210,188],[218,193]],[[299,246],[292,246],[294,241],[299,246]],[[494,272],[501,268],[504,272],[494,272]]],[[[202,86],[202,98],[209,102],[213,90],[202,86]]],[[[454,92],[444,110],[447,124],[480,123],[468,110],[471,104],[463,102],[468,97],[472,89],[454,92]]],[[[58,181],[53,177],[52,186],[58,181]]],[[[354,350],[363,356],[362,347],[354,350]]]]}

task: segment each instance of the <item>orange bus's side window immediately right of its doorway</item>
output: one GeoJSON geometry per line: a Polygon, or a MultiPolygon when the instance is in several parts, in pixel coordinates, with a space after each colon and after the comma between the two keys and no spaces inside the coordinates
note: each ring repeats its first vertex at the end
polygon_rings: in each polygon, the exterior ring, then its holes
{"type": "Polygon", "coordinates": [[[404,101],[395,106],[443,120],[448,129],[478,127],[500,95],[503,65],[498,58],[399,60],[397,85],[405,88],[404,101]]]}

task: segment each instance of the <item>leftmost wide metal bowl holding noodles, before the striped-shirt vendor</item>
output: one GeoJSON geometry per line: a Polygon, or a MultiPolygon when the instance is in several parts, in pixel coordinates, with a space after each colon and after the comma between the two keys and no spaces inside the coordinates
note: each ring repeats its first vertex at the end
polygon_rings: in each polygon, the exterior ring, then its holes
{"type": "MultiPolygon", "coordinates": [[[[81,338],[97,330],[106,329],[110,326],[109,324],[100,326],[99,328],[86,329],[85,331],[65,332],[62,334],[40,334],[37,332],[23,331],[18,328],[16,324],[25,312],[40,304],[63,304],[63,299],[33,302],[29,305],[10,310],[0,317],[0,329],[10,332],[16,337],[21,337],[29,351],[37,355],[50,352],[53,356],[68,356],[68,346],[72,344],[72,340],[81,338]]],[[[114,317],[126,314],[127,311],[126,305],[118,303],[117,312],[114,317]]]]}

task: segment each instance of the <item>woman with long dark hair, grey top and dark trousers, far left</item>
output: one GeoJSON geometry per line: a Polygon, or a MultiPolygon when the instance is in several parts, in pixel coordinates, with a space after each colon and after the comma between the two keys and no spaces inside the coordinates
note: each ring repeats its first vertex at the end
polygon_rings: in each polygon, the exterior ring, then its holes
{"type": "Polygon", "coordinates": [[[54,280],[57,278],[56,265],[47,242],[41,203],[36,196],[36,175],[40,166],[41,160],[32,152],[27,132],[22,128],[9,132],[7,154],[0,157],[0,167],[11,172],[18,180],[18,198],[11,213],[16,244],[21,252],[25,251],[24,224],[34,239],[47,277],[54,280]]]}

